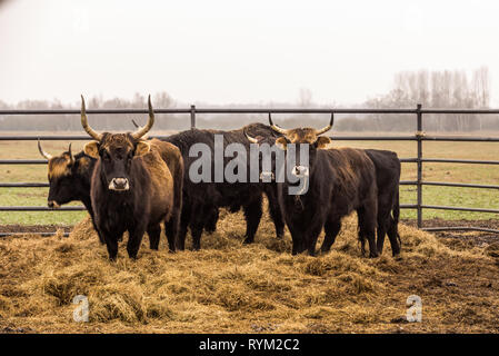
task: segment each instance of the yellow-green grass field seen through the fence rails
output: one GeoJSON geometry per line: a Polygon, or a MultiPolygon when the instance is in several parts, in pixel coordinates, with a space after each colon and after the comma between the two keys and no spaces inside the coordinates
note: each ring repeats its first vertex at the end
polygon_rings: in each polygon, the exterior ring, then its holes
{"type": "MultiPolygon", "coordinates": [[[[76,132],[81,135],[81,132],[76,132]]],[[[488,134],[489,135],[489,134],[488,134]]],[[[46,141],[43,148],[50,154],[60,154],[69,142],[46,141]]],[[[78,152],[83,141],[72,142],[73,151],[78,152]]],[[[336,146],[359,148],[381,148],[396,151],[400,158],[416,157],[413,141],[337,141],[336,146]]],[[[423,142],[423,155],[427,158],[462,158],[497,160],[499,144],[492,142],[423,142]]],[[[0,141],[0,159],[38,159],[36,141],[0,141]]],[[[459,164],[425,164],[423,179],[430,181],[476,182],[499,185],[497,166],[459,165],[459,164]]],[[[402,164],[402,180],[416,180],[416,164],[402,164]]],[[[0,181],[34,182],[47,181],[44,165],[2,165],[0,181]]],[[[47,188],[0,188],[3,206],[46,206],[47,188]]],[[[401,204],[416,204],[416,187],[401,187],[401,204]]],[[[479,208],[499,208],[499,191],[495,189],[423,187],[423,204],[466,206],[479,208]]],[[[74,202],[72,205],[79,205],[74,202]]],[[[81,220],[86,212],[7,212],[0,215],[0,225],[73,225],[81,220]]],[[[402,210],[402,218],[415,218],[415,210],[402,210]]],[[[493,214],[461,212],[445,210],[425,210],[423,218],[442,219],[491,219],[493,214]]]]}

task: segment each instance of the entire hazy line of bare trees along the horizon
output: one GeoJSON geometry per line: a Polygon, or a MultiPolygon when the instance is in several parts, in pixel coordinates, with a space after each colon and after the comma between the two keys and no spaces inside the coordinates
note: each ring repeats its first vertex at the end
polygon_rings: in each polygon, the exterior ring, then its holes
{"type": "MultiPolygon", "coordinates": [[[[167,92],[158,92],[152,96],[156,108],[187,107],[176,102],[167,92]]],[[[490,102],[490,73],[487,67],[478,68],[468,75],[466,71],[403,71],[395,76],[392,89],[386,93],[371,98],[359,108],[415,108],[421,103],[423,108],[467,108],[486,109],[490,102]]],[[[270,103],[224,106],[224,108],[238,107],[318,107],[313,103],[310,89],[302,88],[299,91],[296,103],[270,103]]],[[[207,105],[200,105],[207,107],[207,105]]],[[[71,108],[78,109],[80,102],[76,101],[71,108]]],[[[136,93],[132,99],[108,99],[92,97],[87,99],[89,109],[120,109],[147,107],[147,98],[136,93]]],[[[0,101],[0,109],[62,109],[68,108],[59,100],[39,101],[24,100],[16,106],[9,106],[0,101]]],[[[184,130],[190,127],[189,115],[157,115],[154,128],[157,130],[184,130]]],[[[329,119],[325,115],[276,115],[276,121],[286,127],[322,127],[329,119]]],[[[139,122],[146,121],[137,115],[92,115],[89,120],[99,130],[131,130],[131,119],[139,122]]],[[[426,115],[423,117],[426,131],[473,131],[497,130],[499,119],[495,115],[426,115]]],[[[198,128],[230,129],[238,128],[250,122],[267,122],[266,115],[198,115],[198,128]]],[[[416,120],[413,115],[356,115],[337,116],[336,131],[413,131],[416,120]]],[[[0,130],[37,130],[37,131],[79,131],[81,129],[78,116],[0,116],[0,130]]]]}

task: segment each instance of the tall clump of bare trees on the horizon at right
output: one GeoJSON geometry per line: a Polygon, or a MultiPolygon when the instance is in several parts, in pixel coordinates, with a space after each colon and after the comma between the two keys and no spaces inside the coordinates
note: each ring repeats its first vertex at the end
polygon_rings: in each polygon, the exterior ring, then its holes
{"type": "MultiPolygon", "coordinates": [[[[467,75],[463,70],[402,71],[395,76],[392,89],[365,102],[366,108],[423,108],[487,109],[490,103],[490,73],[480,67],[467,75]]],[[[406,131],[415,129],[413,116],[373,115],[370,130],[406,131]]],[[[367,122],[343,122],[352,130],[367,122]]],[[[498,129],[497,116],[490,115],[426,115],[427,131],[473,131],[498,129]]]]}

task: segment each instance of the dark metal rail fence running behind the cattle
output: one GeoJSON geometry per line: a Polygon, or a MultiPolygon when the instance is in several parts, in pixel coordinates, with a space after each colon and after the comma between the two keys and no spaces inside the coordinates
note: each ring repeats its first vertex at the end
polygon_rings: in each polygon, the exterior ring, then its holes
{"type": "MultiPolygon", "coordinates": [[[[415,135],[407,136],[335,136],[331,139],[339,140],[363,140],[363,141],[416,141],[417,157],[415,158],[401,158],[403,164],[417,165],[417,179],[416,180],[402,180],[400,185],[416,186],[417,187],[417,202],[411,205],[401,205],[402,209],[416,209],[417,210],[417,226],[428,231],[445,231],[445,230],[477,230],[498,233],[499,230],[481,228],[481,227],[423,227],[422,226],[422,210],[423,209],[441,209],[441,210],[459,210],[459,211],[476,211],[476,212],[492,212],[499,214],[499,209],[483,209],[471,207],[450,207],[450,206],[436,206],[423,205],[422,199],[422,186],[440,186],[440,187],[461,187],[461,188],[477,188],[477,189],[499,189],[499,186],[495,185],[477,185],[477,184],[460,184],[460,182],[443,182],[443,181],[425,181],[422,179],[423,162],[447,162],[447,164],[470,164],[470,165],[499,165],[499,160],[466,160],[466,159],[445,159],[445,158],[425,158],[422,150],[423,141],[457,141],[457,142],[499,142],[499,138],[496,137],[460,137],[460,136],[428,136],[425,135],[423,128],[423,115],[440,113],[440,115],[498,115],[499,110],[490,109],[422,109],[421,105],[418,105],[415,109],[262,109],[262,108],[244,108],[244,109],[204,109],[196,108],[191,106],[186,109],[154,109],[157,113],[184,113],[190,116],[191,128],[196,127],[197,113],[398,113],[398,115],[413,115],[416,120],[415,135]]],[[[79,115],[80,110],[0,110],[2,115],[79,115]]],[[[147,109],[99,109],[87,110],[87,113],[148,113],[147,109]]],[[[167,136],[150,136],[150,138],[166,138],[167,136]]],[[[82,136],[63,136],[63,135],[46,135],[46,136],[0,136],[0,141],[21,141],[21,140],[89,140],[87,135],[82,136]]],[[[46,165],[44,159],[0,159],[0,165],[46,165]]],[[[48,182],[0,182],[0,188],[38,188],[48,187],[48,182]]],[[[60,209],[50,209],[48,207],[28,207],[28,206],[0,206],[0,211],[74,211],[84,210],[84,207],[62,207],[60,209]]],[[[0,233],[0,236],[12,235],[12,233],[0,233]]],[[[44,233],[43,235],[48,235],[44,233]]]]}

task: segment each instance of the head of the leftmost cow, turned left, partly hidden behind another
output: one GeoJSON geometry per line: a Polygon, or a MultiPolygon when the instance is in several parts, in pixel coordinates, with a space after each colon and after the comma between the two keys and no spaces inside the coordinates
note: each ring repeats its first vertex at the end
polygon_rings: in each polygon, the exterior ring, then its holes
{"type": "Polygon", "coordinates": [[[50,208],[59,208],[72,200],[81,200],[90,194],[90,176],[94,159],[83,154],[73,156],[71,144],[67,151],[52,156],[43,150],[38,140],[38,150],[48,160],[48,206],[50,208]]]}

